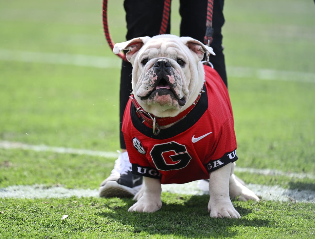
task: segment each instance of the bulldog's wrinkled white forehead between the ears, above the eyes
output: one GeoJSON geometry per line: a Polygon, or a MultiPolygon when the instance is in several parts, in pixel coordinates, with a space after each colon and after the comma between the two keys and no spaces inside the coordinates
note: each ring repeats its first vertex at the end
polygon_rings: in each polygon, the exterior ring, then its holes
{"type": "Polygon", "coordinates": [[[140,50],[140,55],[151,57],[167,57],[169,55],[179,54],[184,50],[185,45],[180,41],[169,38],[151,39],[140,50]]]}

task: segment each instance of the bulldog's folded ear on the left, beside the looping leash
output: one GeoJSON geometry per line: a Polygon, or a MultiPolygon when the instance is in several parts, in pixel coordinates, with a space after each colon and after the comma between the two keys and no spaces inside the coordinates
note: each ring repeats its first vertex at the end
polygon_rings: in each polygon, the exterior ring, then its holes
{"type": "Polygon", "coordinates": [[[113,52],[115,54],[118,54],[122,50],[128,50],[126,53],[127,60],[131,63],[133,63],[135,53],[137,53],[140,48],[146,43],[148,39],[151,37],[137,37],[134,39],[131,39],[127,42],[122,43],[116,43],[113,48],[113,52]]]}

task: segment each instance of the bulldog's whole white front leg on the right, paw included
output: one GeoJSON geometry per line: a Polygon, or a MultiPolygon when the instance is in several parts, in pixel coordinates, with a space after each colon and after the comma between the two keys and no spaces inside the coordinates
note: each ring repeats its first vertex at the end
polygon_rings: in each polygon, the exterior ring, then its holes
{"type": "Polygon", "coordinates": [[[241,218],[238,211],[232,205],[229,196],[229,181],[231,176],[232,163],[225,165],[209,174],[208,211],[214,218],[241,218]]]}

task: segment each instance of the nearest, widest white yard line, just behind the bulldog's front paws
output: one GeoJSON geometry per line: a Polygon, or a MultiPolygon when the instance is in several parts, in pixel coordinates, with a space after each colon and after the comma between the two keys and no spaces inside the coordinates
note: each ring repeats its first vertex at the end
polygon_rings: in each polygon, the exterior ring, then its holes
{"type": "MultiPolygon", "coordinates": [[[[249,189],[254,191],[263,200],[284,202],[311,202],[315,203],[315,191],[284,189],[279,186],[266,186],[249,184],[249,189]]],[[[203,195],[206,191],[198,190],[197,181],[186,184],[162,185],[163,191],[185,195],[203,195]]],[[[67,198],[98,197],[96,189],[67,189],[64,187],[49,187],[46,185],[15,185],[0,188],[0,198],[67,198]]]]}

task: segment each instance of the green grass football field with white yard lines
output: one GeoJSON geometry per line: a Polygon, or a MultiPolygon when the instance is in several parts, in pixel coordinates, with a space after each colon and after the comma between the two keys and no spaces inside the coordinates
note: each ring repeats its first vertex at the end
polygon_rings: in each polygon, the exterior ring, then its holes
{"type": "MultiPolygon", "coordinates": [[[[130,198],[98,197],[119,149],[121,62],[101,6],[1,3],[0,238],[314,238],[314,2],[225,2],[236,174],[261,196],[233,201],[241,219],[210,218],[209,196],[184,189],[164,191],[152,214],[128,213],[130,198]]],[[[177,9],[173,0],[175,35],[177,9]]],[[[122,0],[109,1],[108,16],[124,41],[122,0]]]]}

